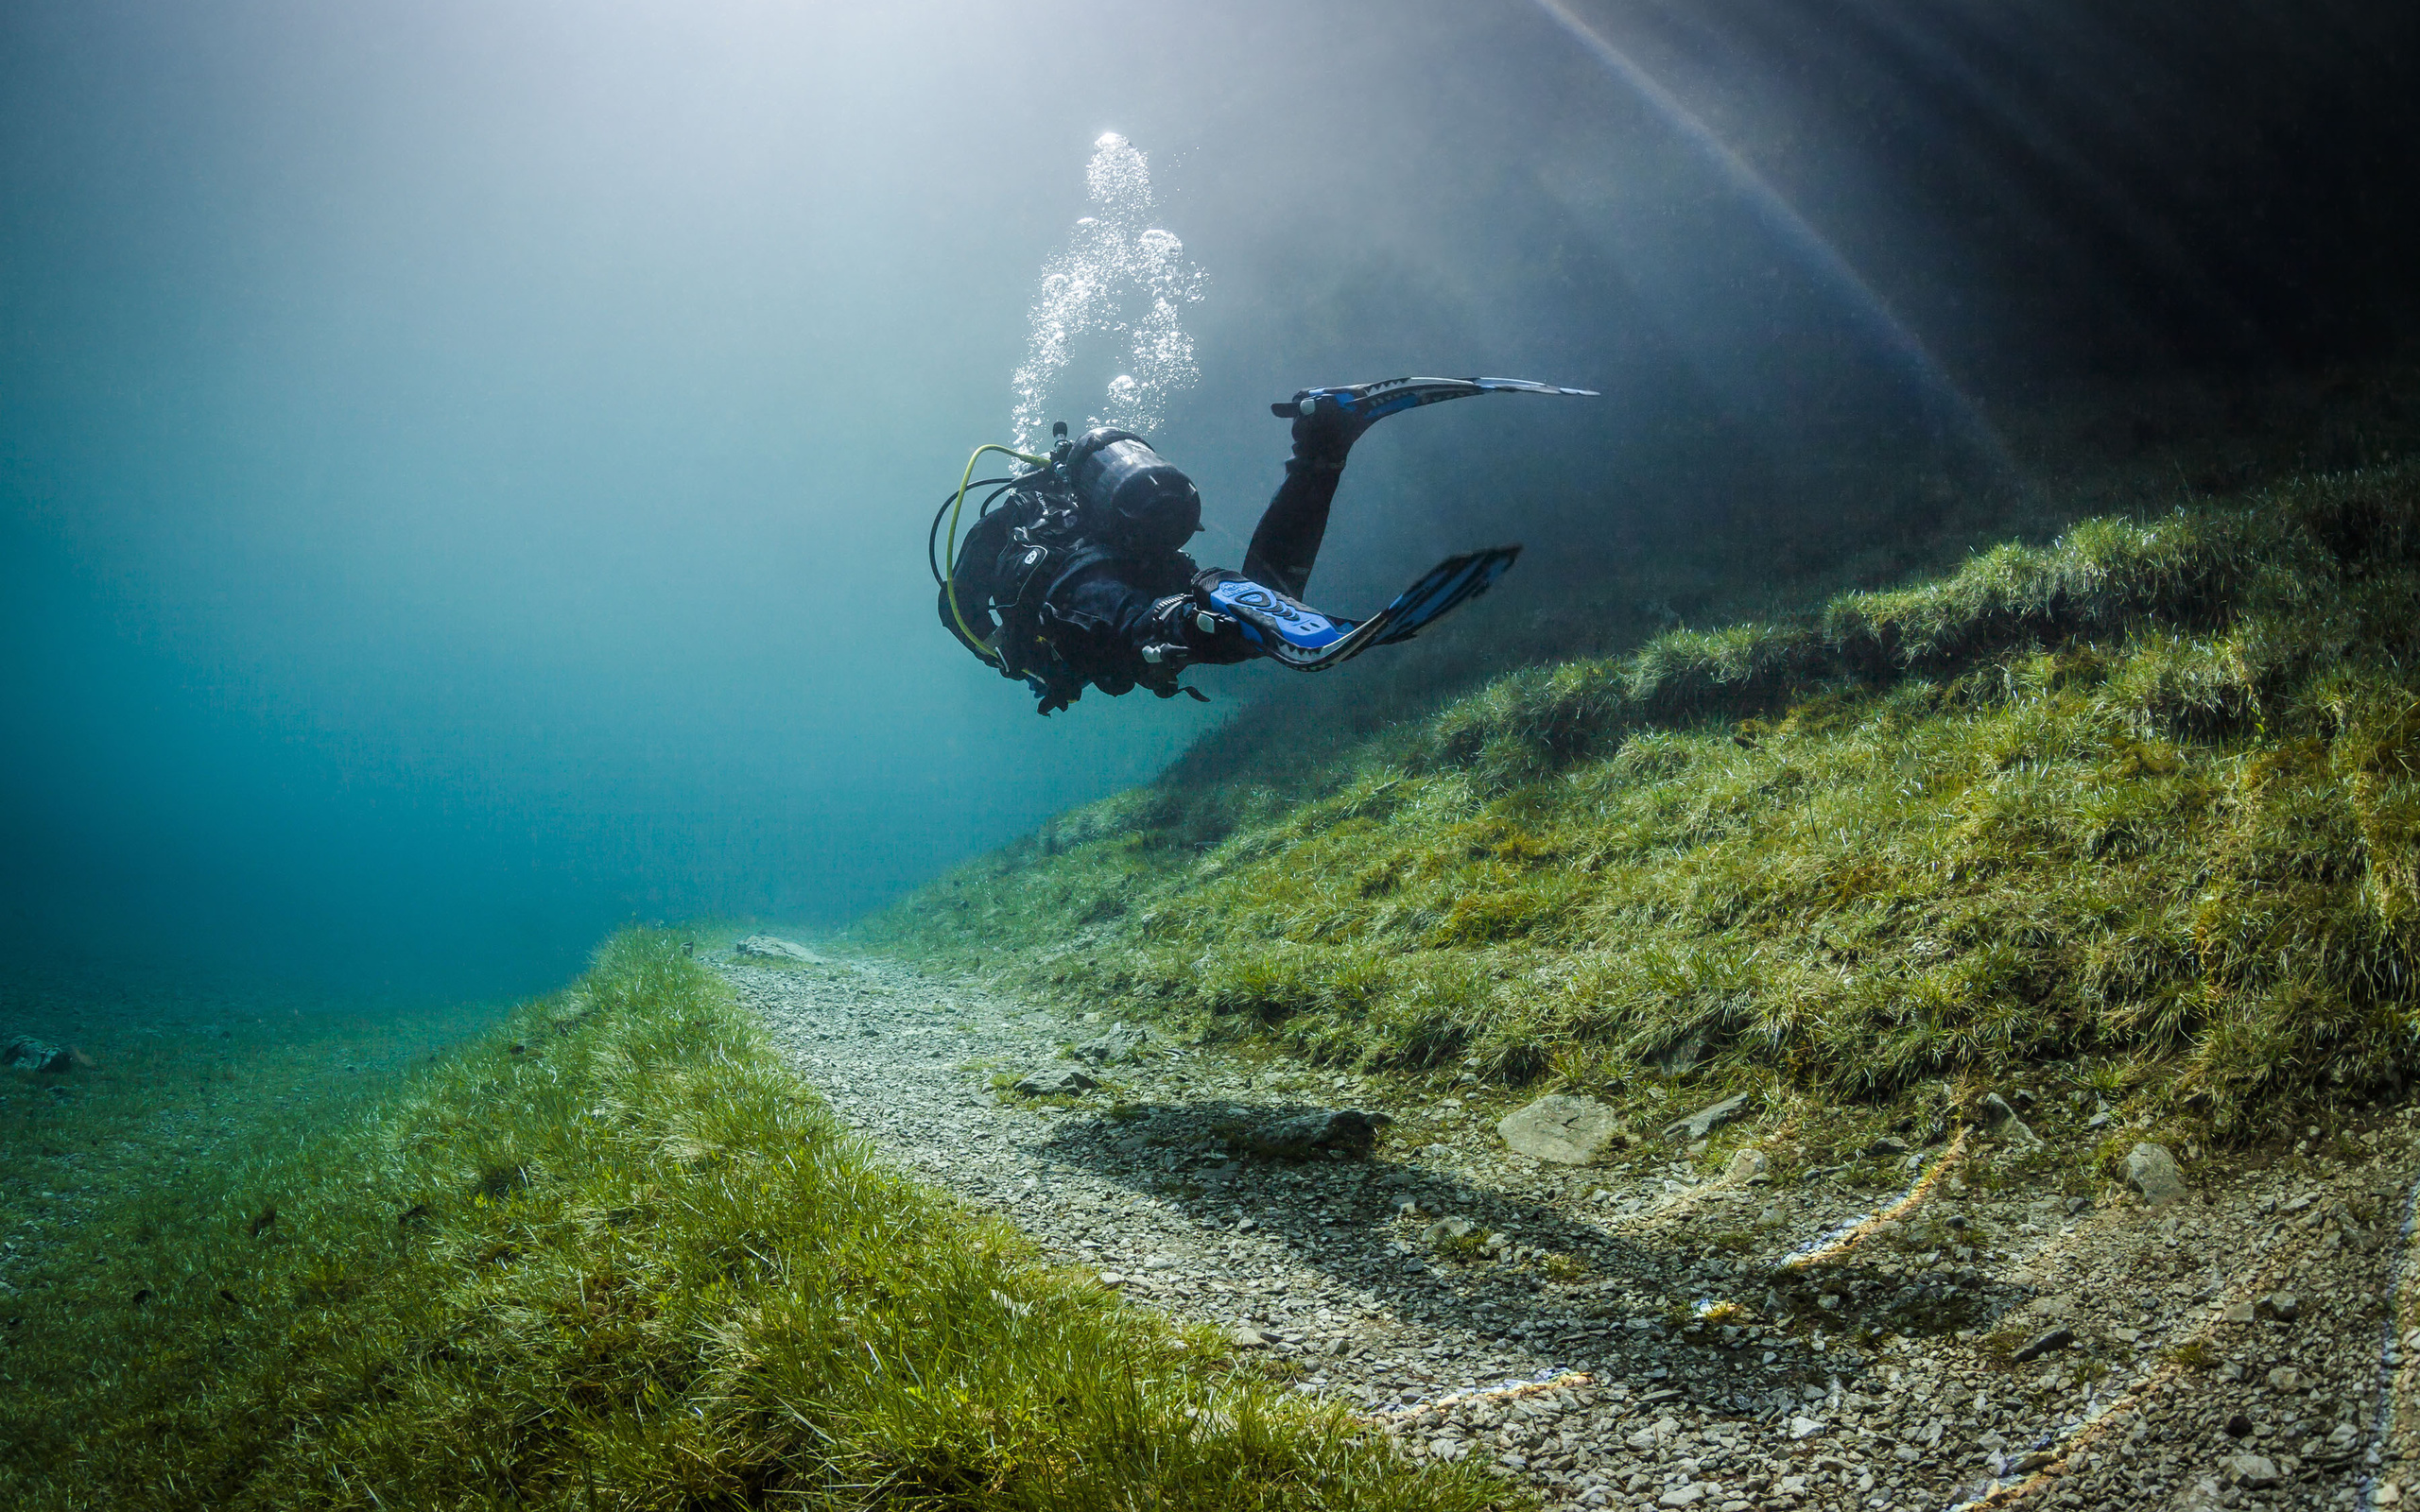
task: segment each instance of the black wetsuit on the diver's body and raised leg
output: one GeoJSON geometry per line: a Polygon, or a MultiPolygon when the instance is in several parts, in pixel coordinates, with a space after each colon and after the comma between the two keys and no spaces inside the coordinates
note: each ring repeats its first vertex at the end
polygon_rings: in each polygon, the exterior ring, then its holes
{"type": "MultiPolygon", "coordinates": [[[[1302,595],[1329,532],[1346,452],[1365,426],[1295,421],[1285,481],[1244,552],[1246,578],[1287,598],[1302,595]]],[[[968,629],[990,646],[978,653],[1002,675],[1028,682],[1041,714],[1065,709],[1087,685],[1111,697],[1150,687],[1166,699],[1193,692],[1179,685],[1188,665],[1258,656],[1232,622],[1205,627],[1195,614],[1200,576],[1183,552],[1118,552],[1087,537],[1067,501],[1019,491],[968,535],[953,573],[958,602],[953,610],[944,590],[941,622],[966,639],[956,627],[966,614],[968,629]]]]}

